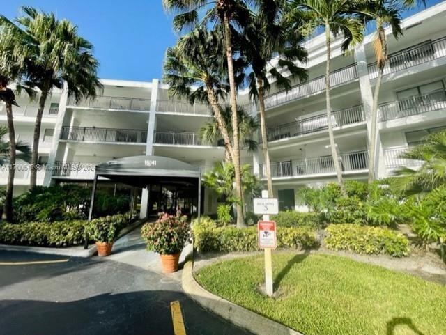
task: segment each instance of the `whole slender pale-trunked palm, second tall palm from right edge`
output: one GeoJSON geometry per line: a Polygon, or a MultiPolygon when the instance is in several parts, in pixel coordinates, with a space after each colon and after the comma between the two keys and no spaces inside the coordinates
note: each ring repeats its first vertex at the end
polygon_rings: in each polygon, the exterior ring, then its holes
{"type": "Polygon", "coordinates": [[[362,42],[364,26],[360,15],[355,12],[357,1],[349,0],[293,0],[289,19],[298,22],[296,28],[302,29],[302,18],[307,21],[310,29],[323,29],[325,31],[325,46],[327,48],[327,61],[325,64],[325,100],[327,109],[328,136],[330,148],[336,170],[337,180],[344,192],[344,180],[340,157],[337,153],[334,141],[332,125],[332,107],[330,99],[330,63],[332,36],[342,36],[342,52],[347,52],[349,47],[362,42]]]}

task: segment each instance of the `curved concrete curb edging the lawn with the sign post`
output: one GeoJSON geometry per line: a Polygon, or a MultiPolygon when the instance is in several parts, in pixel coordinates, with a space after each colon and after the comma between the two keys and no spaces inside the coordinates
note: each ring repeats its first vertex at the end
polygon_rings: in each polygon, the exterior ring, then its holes
{"type": "Polygon", "coordinates": [[[233,304],[232,302],[213,295],[208,292],[195,281],[193,275],[194,261],[193,248],[190,248],[190,254],[187,255],[185,265],[183,267],[183,275],[181,284],[183,290],[196,302],[201,304],[205,309],[213,311],[213,313],[220,315],[222,318],[231,321],[238,327],[249,330],[258,335],[303,335],[300,332],[281,325],[278,322],[265,318],[257,313],[249,311],[241,306],[233,304]]]}

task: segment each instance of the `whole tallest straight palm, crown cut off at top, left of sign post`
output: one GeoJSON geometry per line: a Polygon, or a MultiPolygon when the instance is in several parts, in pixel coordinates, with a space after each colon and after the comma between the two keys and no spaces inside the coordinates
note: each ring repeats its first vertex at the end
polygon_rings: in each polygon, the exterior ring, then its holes
{"type": "MultiPolygon", "coordinates": [[[[176,12],[174,29],[183,31],[190,26],[206,28],[210,22],[218,23],[222,27],[224,36],[224,54],[229,79],[229,93],[231,104],[231,123],[233,129],[238,126],[237,114],[237,84],[236,67],[234,65],[233,24],[243,26],[249,20],[249,8],[243,0],[163,0],[164,8],[176,12]],[[203,15],[200,14],[203,13],[203,15]]],[[[240,170],[240,139],[238,132],[233,132],[233,164],[236,174],[236,193],[243,197],[242,176],[240,170]]],[[[237,208],[237,225],[245,226],[243,208],[237,208]]]]}

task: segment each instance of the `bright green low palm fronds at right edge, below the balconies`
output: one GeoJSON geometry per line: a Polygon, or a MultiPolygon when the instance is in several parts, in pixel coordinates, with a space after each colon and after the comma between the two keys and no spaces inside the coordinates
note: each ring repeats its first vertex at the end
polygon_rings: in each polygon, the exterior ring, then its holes
{"type": "Polygon", "coordinates": [[[392,178],[395,189],[404,194],[420,194],[446,185],[446,130],[429,134],[424,143],[410,148],[401,158],[420,167],[398,169],[397,178],[392,178]]]}

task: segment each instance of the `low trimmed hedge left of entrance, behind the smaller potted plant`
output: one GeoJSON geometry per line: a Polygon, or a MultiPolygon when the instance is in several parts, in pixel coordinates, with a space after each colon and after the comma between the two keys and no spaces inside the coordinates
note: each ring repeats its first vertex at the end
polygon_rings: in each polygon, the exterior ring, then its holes
{"type": "MultiPolygon", "coordinates": [[[[129,214],[117,214],[94,220],[114,221],[121,230],[134,221],[129,214]]],[[[85,220],[57,222],[27,222],[24,224],[0,224],[0,243],[40,247],[70,247],[84,244],[85,220]]]]}

